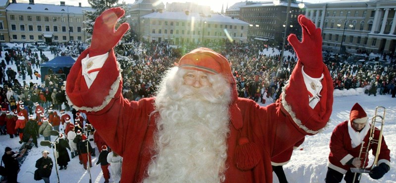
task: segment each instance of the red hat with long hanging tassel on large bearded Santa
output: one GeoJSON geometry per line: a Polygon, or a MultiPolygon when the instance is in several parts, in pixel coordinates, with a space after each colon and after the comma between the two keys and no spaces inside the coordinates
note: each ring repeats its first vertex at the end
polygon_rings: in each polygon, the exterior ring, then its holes
{"type": "MultiPolygon", "coordinates": [[[[229,107],[231,123],[237,131],[244,132],[241,110],[236,105],[238,99],[237,85],[232,74],[230,63],[223,55],[205,47],[200,47],[185,54],[179,60],[179,68],[198,70],[210,74],[221,74],[229,83],[231,103],[229,107]]],[[[250,170],[261,159],[258,146],[250,142],[247,134],[242,133],[236,142],[234,162],[240,170],[250,170]]]]}

